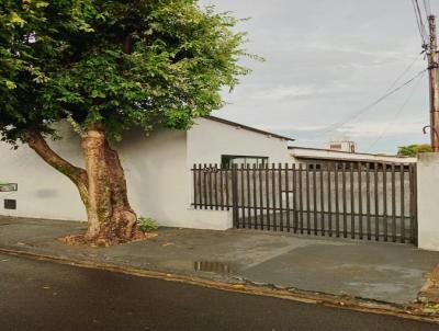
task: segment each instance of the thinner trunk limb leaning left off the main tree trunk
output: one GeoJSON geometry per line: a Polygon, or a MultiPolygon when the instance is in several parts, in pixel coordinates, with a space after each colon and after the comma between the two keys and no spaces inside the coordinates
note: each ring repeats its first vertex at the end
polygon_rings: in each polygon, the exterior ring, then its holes
{"type": "Polygon", "coordinates": [[[40,133],[30,133],[27,145],[44,160],[46,163],[68,176],[78,187],[79,194],[85,204],[88,201],[88,178],[85,169],[75,167],[67,160],[57,155],[46,142],[40,133]]]}

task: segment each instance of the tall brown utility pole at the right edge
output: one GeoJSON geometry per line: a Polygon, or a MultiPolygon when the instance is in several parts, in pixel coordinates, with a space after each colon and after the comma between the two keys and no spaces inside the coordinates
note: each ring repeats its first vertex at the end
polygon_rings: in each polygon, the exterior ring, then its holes
{"type": "Polygon", "coordinates": [[[428,16],[430,41],[427,52],[430,84],[430,135],[431,148],[439,151],[439,53],[436,35],[436,16],[428,16]]]}

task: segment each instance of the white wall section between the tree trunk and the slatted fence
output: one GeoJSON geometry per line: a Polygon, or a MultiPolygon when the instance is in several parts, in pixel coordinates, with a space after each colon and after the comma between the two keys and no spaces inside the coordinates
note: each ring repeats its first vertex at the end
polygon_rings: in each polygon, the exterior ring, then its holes
{"type": "Polygon", "coordinates": [[[194,210],[192,176],[187,162],[187,133],[162,129],[145,137],[127,135],[117,150],[124,164],[128,196],[138,216],[161,226],[225,230],[232,218],[223,210],[194,210]]]}

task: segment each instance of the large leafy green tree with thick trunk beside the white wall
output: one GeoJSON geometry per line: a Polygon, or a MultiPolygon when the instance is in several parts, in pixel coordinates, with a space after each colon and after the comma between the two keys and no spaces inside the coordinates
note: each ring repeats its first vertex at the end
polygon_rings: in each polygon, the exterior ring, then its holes
{"type": "Polygon", "coordinates": [[[237,22],[198,0],[0,0],[1,139],[27,144],[78,187],[88,230],[74,240],[139,236],[112,142],[219,109],[221,90],[249,72],[237,22]],[[85,169],[47,144],[59,121],[80,135],[85,169]]]}

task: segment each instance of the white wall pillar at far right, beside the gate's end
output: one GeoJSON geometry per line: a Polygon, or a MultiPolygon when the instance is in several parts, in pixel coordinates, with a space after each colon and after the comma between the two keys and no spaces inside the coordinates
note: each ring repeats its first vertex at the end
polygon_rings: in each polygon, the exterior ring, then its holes
{"type": "Polygon", "coordinates": [[[418,247],[439,251],[439,153],[419,155],[417,163],[418,247]]]}

